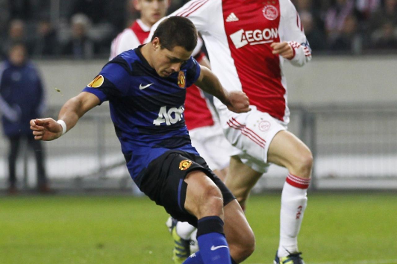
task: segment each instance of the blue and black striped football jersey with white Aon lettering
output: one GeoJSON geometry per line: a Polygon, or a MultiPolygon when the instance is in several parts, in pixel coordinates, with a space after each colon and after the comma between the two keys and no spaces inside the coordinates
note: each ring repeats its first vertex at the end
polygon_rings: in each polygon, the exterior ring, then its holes
{"type": "Polygon", "coordinates": [[[140,47],[107,63],[83,92],[109,101],[110,115],[127,168],[140,186],[140,172],[169,150],[198,155],[183,119],[186,88],[200,75],[190,57],[177,73],[160,77],[143,57],[140,47]]]}

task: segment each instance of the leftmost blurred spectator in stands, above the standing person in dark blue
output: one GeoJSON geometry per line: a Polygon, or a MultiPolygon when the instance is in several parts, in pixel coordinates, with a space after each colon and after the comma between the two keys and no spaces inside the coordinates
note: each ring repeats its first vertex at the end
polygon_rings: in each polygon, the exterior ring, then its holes
{"type": "Polygon", "coordinates": [[[10,50],[10,48],[15,43],[23,43],[25,45],[27,53],[28,54],[32,53],[33,45],[26,36],[25,22],[23,22],[21,19],[14,19],[10,22],[10,27],[8,29],[8,37],[6,38],[2,47],[3,53],[7,54],[8,50],[10,50]]]}

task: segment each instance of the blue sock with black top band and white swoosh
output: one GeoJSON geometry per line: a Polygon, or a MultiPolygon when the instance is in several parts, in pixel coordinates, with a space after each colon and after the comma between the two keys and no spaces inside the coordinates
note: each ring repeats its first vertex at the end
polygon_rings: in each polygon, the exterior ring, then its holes
{"type": "Polygon", "coordinates": [[[202,263],[231,264],[223,225],[219,216],[206,216],[197,221],[197,241],[202,263]]]}

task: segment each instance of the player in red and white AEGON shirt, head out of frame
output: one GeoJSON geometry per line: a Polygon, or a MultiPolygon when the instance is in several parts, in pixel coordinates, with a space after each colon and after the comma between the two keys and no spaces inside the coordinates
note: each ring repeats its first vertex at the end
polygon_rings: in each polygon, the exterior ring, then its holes
{"type": "MultiPolygon", "coordinates": [[[[235,147],[226,186],[242,207],[270,163],[289,170],[281,194],[280,241],[275,263],[304,263],[297,236],[306,209],[312,153],[288,132],[283,63],[303,66],[310,46],[290,0],[193,0],[172,15],[195,24],[211,69],[229,91],[242,90],[252,111],[235,114],[214,100],[224,134],[235,147]]],[[[156,28],[154,25],[153,29],[156,28]]]]}

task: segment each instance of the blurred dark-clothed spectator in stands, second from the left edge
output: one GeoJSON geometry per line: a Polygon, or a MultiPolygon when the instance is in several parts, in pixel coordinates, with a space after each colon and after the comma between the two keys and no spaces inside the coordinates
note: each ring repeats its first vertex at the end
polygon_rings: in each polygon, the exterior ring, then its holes
{"type": "Polygon", "coordinates": [[[58,39],[50,21],[42,20],[37,24],[33,54],[36,56],[55,55],[58,53],[58,39]]]}

